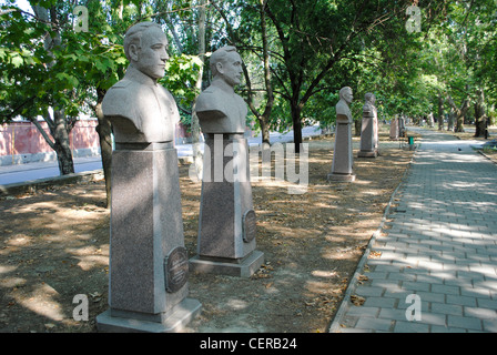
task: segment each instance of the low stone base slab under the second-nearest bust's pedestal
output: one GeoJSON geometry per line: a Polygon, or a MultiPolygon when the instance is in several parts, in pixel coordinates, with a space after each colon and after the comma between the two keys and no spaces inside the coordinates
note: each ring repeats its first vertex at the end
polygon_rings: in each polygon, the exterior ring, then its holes
{"type": "Polygon", "coordinates": [[[221,274],[237,277],[252,276],[264,263],[264,253],[252,251],[243,258],[193,256],[190,271],[207,274],[221,274]]]}

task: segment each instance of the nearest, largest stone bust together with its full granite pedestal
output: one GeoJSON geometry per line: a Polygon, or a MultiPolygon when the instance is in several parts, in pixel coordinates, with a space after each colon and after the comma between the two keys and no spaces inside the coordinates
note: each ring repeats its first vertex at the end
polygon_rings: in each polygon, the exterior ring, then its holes
{"type": "Polygon", "coordinates": [[[112,123],[109,306],[102,332],[179,332],[201,310],[189,295],[172,94],[158,80],[168,40],[153,22],[124,37],[130,61],[106,92],[102,111],[112,123]]]}

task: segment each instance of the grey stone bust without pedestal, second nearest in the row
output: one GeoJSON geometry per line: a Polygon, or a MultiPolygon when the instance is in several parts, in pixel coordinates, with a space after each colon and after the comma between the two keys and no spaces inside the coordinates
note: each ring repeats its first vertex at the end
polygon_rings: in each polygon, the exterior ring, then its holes
{"type": "Polygon", "coordinates": [[[196,99],[195,112],[203,133],[244,133],[247,109],[234,87],[242,78],[242,58],[232,45],[211,55],[211,85],[196,99]]]}

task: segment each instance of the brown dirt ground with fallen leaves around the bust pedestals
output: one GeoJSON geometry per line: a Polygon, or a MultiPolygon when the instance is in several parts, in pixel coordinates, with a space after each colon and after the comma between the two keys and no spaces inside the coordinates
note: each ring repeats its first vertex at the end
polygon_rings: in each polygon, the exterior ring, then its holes
{"type": "MultiPolygon", "coordinates": [[[[327,332],[414,153],[388,142],[386,129],[381,139],[376,159],[354,151],[354,183],[326,180],[333,138],[307,142],[305,193],[288,194],[286,181],[253,181],[265,263],[250,278],[191,273],[190,297],[202,303],[202,313],[184,332],[327,332]]],[[[180,165],[180,184],[193,256],[201,184],[187,169],[180,165]]],[[[103,181],[0,199],[0,332],[97,332],[95,316],[108,308],[104,199],[103,181]],[[78,295],[88,297],[88,321],[73,318],[78,295]]]]}

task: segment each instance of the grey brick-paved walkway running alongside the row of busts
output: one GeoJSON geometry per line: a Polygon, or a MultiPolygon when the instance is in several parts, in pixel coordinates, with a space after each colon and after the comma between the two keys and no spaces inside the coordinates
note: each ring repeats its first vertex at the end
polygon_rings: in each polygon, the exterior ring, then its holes
{"type": "Polygon", "coordinates": [[[419,133],[331,332],[497,332],[497,165],[452,135],[419,133]]]}

